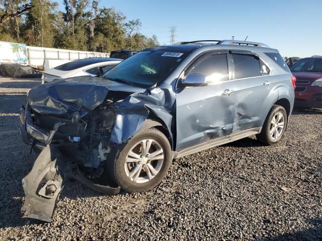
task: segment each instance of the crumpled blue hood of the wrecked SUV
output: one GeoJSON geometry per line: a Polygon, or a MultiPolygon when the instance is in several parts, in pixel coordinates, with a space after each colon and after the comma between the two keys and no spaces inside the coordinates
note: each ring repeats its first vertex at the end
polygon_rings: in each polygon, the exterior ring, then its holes
{"type": "Polygon", "coordinates": [[[91,111],[103,103],[109,91],[144,92],[134,87],[97,77],[77,77],[38,85],[27,94],[29,105],[38,113],[69,115],[75,111],[91,111]]]}

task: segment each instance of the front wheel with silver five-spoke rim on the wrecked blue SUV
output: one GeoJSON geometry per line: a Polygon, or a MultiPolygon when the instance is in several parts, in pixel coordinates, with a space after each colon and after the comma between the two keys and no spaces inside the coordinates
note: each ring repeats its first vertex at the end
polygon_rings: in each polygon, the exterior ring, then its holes
{"type": "Polygon", "coordinates": [[[115,183],[127,192],[141,192],[155,187],[167,175],[172,163],[171,146],[167,137],[154,128],[137,133],[125,145],[119,146],[113,156],[113,161],[107,164],[110,176],[115,183]],[[146,140],[146,147],[150,145],[150,148],[147,147],[146,149],[148,149],[147,153],[150,153],[151,157],[147,157],[149,155],[143,153],[143,145],[145,144],[142,143],[144,143],[144,140],[146,140]],[[163,151],[163,160],[157,159],[162,157],[160,151],[163,151]],[[152,157],[152,154],[156,155],[152,157]],[[154,158],[156,160],[150,160],[154,158]],[[132,160],[135,162],[130,163],[129,161],[132,160]],[[138,171],[135,172],[135,170],[138,171]],[[135,173],[134,176],[133,173],[135,173]]]}

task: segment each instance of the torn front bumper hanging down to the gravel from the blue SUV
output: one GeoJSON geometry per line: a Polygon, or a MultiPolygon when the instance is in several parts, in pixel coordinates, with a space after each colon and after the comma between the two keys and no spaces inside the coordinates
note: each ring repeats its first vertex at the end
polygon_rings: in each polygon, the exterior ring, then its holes
{"type": "Polygon", "coordinates": [[[23,178],[25,201],[21,208],[23,217],[50,222],[56,199],[63,188],[65,179],[72,178],[98,192],[117,194],[120,187],[103,186],[93,183],[78,169],[78,164],[67,159],[58,146],[51,145],[53,136],[64,123],[58,122],[53,130],[45,131],[33,124],[28,104],[22,106],[19,114],[19,130],[27,145],[42,150],[30,173],[23,178]]]}

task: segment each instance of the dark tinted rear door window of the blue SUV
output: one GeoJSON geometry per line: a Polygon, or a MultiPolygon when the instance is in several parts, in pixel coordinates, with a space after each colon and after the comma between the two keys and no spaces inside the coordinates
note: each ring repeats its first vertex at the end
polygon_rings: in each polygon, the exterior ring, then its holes
{"type": "Polygon", "coordinates": [[[233,54],[235,66],[234,79],[261,76],[261,66],[259,58],[253,55],[233,54]]]}

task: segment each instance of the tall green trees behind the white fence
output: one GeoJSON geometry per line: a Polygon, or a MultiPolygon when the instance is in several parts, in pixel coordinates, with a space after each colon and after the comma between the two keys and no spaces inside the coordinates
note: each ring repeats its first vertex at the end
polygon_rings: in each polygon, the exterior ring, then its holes
{"type": "Polygon", "coordinates": [[[0,40],[31,46],[96,52],[141,50],[158,45],[139,33],[139,19],[126,22],[121,12],[95,0],[64,0],[64,11],[51,0],[0,1],[0,40]]]}

